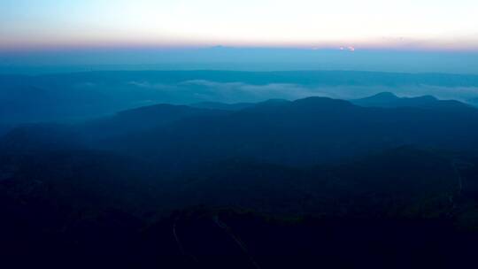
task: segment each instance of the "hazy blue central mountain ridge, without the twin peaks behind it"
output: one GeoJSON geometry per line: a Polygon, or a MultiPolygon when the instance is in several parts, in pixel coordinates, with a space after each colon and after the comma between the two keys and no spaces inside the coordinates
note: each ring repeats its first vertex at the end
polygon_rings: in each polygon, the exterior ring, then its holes
{"type": "Polygon", "coordinates": [[[224,158],[313,165],[406,144],[474,151],[476,137],[478,110],[471,108],[366,108],[311,97],[181,119],[103,146],[173,166],[224,158]]]}

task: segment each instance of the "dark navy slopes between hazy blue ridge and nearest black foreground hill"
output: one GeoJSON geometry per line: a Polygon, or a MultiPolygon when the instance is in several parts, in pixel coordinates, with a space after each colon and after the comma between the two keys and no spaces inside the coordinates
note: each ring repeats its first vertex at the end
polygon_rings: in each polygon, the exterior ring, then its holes
{"type": "Polygon", "coordinates": [[[153,164],[95,151],[2,154],[0,164],[0,194],[22,200],[11,205],[19,211],[44,204],[38,210],[55,205],[135,216],[204,204],[288,215],[444,218],[462,194],[474,203],[478,182],[475,169],[454,166],[451,155],[413,148],[308,169],[225,160],[173,177],[153,164]]]}

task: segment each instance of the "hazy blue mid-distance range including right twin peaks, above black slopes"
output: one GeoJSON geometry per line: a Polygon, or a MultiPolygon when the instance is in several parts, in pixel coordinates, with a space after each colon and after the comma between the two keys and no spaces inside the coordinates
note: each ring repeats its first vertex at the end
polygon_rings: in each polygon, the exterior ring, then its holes
{"type": "MultiPolygon", "coordinates": [[[[393,107],[325,97],[271,100],[239,111],[159,104],[65,128],[92,148],[184,165],[224,158],[313,165],[413,144],[478,150],[478,110],[466,104],[389,94],[364,100],[393,107]]],[[[21,135],[7,137],[5,147],[29,143],[12,142],[21,135]]]]}

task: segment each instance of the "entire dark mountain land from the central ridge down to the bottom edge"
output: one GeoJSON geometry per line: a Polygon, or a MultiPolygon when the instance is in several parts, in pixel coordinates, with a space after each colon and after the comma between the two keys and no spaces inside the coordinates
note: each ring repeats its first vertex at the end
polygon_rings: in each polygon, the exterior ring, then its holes
{"type": "Polygon", "coordinates": [[[0,263],[466,266],[477,111],[311,97],[19,127],[0,141],[0,263]]]}

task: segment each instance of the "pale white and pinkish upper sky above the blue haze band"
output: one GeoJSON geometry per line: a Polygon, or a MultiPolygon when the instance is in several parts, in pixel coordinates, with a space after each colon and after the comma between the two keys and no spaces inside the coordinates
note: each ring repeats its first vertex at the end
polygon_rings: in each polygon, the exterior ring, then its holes
{"type": "Polygon", "coordinates": [[[252,46],[478,50],[476,0],[0,0],[0,50],[252,46]]]}

